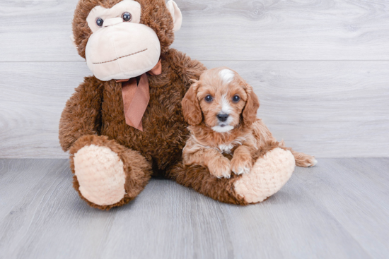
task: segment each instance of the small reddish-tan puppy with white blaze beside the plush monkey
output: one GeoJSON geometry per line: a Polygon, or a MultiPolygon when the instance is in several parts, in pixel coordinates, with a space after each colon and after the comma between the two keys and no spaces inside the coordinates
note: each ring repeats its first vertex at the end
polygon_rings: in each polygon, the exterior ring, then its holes
{"type": "MultiPolygon", "coordinates": [[[[268,150],[291,150],[277,142],[257,119],[260,102],[238,73],[226,67],[213,68],[193,82],[182,100],[182,113],[190,124],[190,138],[182,150],[184,164],[199,164],[218,178],[229,178],[231,171],[249,173],[268,150]]],[[[313,156],[291,152],[297,166],[310,167],[317,162],[313,156]]]]}

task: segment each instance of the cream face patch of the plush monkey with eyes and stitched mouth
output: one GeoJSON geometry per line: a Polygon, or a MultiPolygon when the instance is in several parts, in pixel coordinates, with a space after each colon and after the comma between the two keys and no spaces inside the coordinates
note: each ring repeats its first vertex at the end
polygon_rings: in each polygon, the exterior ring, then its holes
{"type": "Polygon", "coordinates": [[[141,6],[133,0],[112,8],[96,6],[89,13],[86,21],[93,33],[86,44],[86,64],[96,78],[134,78],[156,66],[161,44],[140,18],[141,6]]]}

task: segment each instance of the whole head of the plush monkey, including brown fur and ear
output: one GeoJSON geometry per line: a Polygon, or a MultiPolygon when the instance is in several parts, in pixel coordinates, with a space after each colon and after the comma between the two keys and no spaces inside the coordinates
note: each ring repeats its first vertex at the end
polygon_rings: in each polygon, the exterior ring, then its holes
{"type": "Polygon", "coordinates": [[[156,66],[181,23],[173,0],[79,0],[71,38],[96,78],[128,79],[156,66]]]}

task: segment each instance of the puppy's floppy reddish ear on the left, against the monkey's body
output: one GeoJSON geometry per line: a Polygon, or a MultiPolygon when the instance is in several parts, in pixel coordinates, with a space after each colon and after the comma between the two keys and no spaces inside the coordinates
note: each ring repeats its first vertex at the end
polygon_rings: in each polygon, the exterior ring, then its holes
{"type": "Polygon", "coordinates": [[[199,100],[197,100],[197,89],[200,83],[196,80],[193,81],[195,83],[187,90],[184,99],[181,101],[181,105],[185,121],[195,126],[202,122],[202,110],[200,109],[199,100]]]}

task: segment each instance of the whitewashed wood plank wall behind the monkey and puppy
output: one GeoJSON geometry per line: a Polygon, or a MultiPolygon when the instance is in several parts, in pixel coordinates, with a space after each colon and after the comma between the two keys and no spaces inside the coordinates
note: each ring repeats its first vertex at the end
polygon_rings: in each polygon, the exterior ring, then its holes
{"type": "MultiPolygon", "coordinates": [[[[76,2],[0,1],[0,158],[68,157],[59,116],[91,75],[69,40],[76,2]]],[[[176,2],[173,47],[238,71],[277,138],[317,157],[389,156],[389,1],[176,2]]]]}

